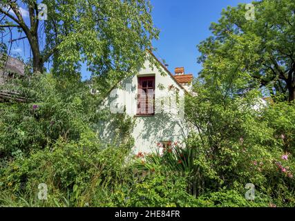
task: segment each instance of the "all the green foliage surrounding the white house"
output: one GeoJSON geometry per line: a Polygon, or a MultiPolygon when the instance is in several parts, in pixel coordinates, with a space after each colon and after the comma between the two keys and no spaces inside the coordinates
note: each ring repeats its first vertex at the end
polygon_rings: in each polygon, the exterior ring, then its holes
{"type": "MultiPolygon", "coordinates": [[[[112,2],[131,10],[134,22],[150,18],[144,1],[112,2]],[[143,17],[135,13],[139,8],[146,12],[143,17]]],[[[79,13],[88,15],[87,4],[77,1],[73,7],[78,5],[84,7],[79,13]]],[[[50,43],[58,43],[61,52],[53,53],[52,70],[31,66],[25,78],[2,86],[26,102],[0,104],[0,205],[295,206],[295,3],[265,0],[254,5],[254,21],[244,20],[245,5],[224,10],[211,26],[212,36],[198,46],[203,68],[193,82],[193,95],[185,99],[185,118],[195,128],[185,148],[170,142],[164,150],[158,144],[156,153],[137,155],[131,154],[133,118],[97,110],[106,88],[143,61],[126,59],[135,56],[135,46],[144,56],[151,45],[141,28],[151,38],[156,30],[151,22],[135,22],[139,35],[124,45],[121,35],[108,42],[108,32],[118,31],[115,21],[106,18],[94,26],[97,21],[89,20],[85,31],[96,27],[90,36],[102,37],[91,46],[94,56],[86,35],[75,36],[79,19],[84,19],[75,17],[73,30],[50,43]],[[73,43],[80,41],[76,48],[73,43]],[[76,48],[75,56],[65,54],[70,47],[76,48]],[[90,82],[80,79],[76,65],[84,53],[93,73],[103,70],[91,81],[99,93],[91,93],[90,82]],[[97,138],[102,119],[116,125],[117,145],[97,138]],[[46,184],[47,200],[39,200],[39,184],[46,184]],[[254,199],[245,198],[246,184],[255,186],[254,199]]],[[[110,10],[122,16],[115,6],[110,10]]]]}

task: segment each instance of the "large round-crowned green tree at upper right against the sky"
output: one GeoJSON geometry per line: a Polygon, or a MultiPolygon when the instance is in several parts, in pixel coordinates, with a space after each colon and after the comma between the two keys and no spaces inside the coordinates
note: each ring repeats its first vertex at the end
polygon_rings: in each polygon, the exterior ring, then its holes
{"type": "MultiPolygon", "coordinates": [[[[248,90],[256,84],[269,88],[276,98],[295,99],[295,2],[253,2],[255,18],[247,19],[245,4],[222,11],[211,24],[213,36],[198,46],[204,64],[201,76],[211,75],[223,61],[248,79],[248,90]]],[[[229,67],[229,68],[230,68],[229,67]]],[[[222,74],[222,73],[220,73],[222,74]]],[[[234,75],[235,73],[233,73],[234,75]]],[[[247,91],[247,90],[246,90],[247,91]]]]}

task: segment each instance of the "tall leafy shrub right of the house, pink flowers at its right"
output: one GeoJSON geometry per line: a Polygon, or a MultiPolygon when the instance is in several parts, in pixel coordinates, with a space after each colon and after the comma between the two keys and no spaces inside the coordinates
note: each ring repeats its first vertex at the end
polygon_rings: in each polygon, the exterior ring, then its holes
{"type": "Polygon", "coordinates": [[[222,89],[212,95],[213,86],[195,86],[198,96],[187,97],[186,111],[198,130],[187,140],[196,150],[197,195],[253,183],[277,205],[292,206],[294,104],[258,106],[254,90],[222,96],[222,89]]]}

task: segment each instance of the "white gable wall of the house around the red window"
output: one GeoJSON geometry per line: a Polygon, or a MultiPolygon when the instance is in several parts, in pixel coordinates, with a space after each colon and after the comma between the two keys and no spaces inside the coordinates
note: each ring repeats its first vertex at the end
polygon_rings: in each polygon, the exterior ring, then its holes
{"type": "MultiPolygon", "coordinates": [[[[158,148],[157,143],[162,141],[182,143],[189,133],[189,127],[184,122],[184,89],[164,68],[162,71],[166,75],[161,75],[157,68],[152,70],[149,61],[146,61],[144,68],[137,75],[122,81],[102,105],[102,108],[110,108],[113,114],[122,113],[125,106],[126,114],[134,117],[135,127],[132,135],[135,139],[135,154],[151,153],[158,148]],[[137,116],[137,77],[145,76],[155,76],[155,115],[137,116]],[[179,95],[178,102],[176,90],[179,95]]],[[[114,128],[110,128],[109,122],[103,122],[99,130],[99,137],[103,142],[113,141],[114,128]]]]}

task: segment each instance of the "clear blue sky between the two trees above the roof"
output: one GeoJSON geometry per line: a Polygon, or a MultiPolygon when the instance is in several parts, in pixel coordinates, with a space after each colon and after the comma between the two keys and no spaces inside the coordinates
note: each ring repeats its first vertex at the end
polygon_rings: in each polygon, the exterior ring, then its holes
{"type": "Polygon", "coordinates": [[[153,20],[160,29],[160,39],[153,42],[155,55],[175,67],[184,67],[185,73],[197,76],[202,68],[197,63],[200,55],[196,46],[211,35],[209,26],[217,22],[222,8],[250,3],[250,0],[151,0],[153,20]]]}

